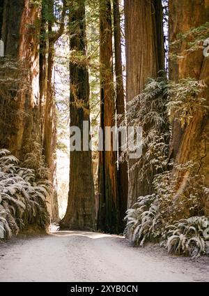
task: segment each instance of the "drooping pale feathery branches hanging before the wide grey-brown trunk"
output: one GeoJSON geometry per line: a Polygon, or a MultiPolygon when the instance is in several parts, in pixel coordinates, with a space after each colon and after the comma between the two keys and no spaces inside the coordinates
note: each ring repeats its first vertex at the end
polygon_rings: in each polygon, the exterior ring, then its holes
{"type": "MultiPolygon", "coordinates": [[[[162,172],[167,167],[169,150],[168,88],[167,78],[149,78],[144,91],[127,104],[127,113],[118,117],[121,125],[143,128],[143,157],[130,168],[139,168],[140,179],[152,168],[162,172]]],[[[127,155],[122,156],[128,158],[127,155]]]]}

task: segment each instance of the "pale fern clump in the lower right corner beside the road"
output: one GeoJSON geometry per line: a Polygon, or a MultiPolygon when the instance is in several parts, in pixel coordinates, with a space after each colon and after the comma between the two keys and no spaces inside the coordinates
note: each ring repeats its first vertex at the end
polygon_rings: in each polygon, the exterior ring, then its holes
{"type": "Polygon", "coordinates": [[[192,258],[209,254],[209,219],[206,216],[194,216],[175,221],[167,225],[163,239],[169,253],[189,255],[192,258]]]}

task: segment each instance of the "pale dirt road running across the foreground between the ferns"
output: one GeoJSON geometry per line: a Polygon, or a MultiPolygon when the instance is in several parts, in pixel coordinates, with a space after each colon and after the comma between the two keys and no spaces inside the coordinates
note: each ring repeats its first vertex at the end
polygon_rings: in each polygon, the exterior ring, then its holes
{"type": "Polygon", "coordinates": [[[0,244],[0,281],[209,281],[209,258],[132,247],[116,235],[52,232],[0,244]]]}

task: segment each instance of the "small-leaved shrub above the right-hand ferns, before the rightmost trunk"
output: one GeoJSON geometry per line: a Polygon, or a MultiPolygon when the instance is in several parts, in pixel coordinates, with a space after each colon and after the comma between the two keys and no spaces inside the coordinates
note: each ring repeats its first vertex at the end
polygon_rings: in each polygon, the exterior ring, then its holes
{"type": "Polygon", "coordinates": [[[209,198],[205,177],[196,174],[199,163],[187,162],[174,165],[173,171],[155,176],[153,188],[160,196],[160,214],[162,220],[173,223],[181,217],[203,216],[206,214],[206,202],[209,198]]]}

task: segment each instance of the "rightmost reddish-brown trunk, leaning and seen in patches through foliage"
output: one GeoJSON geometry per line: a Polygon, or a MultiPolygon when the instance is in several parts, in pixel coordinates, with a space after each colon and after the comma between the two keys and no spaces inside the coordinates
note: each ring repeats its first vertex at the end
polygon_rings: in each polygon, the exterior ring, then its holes
{"type": "MultiPolygon", "coordinates": [[[[208,22],[209,2],[203,1],[169,1],[169,32],[171,54],[184,56],[183,59],[171,60],[170,79],[178,82],[180,79],[192,77],[195,80],[203,80],[207,87],[201,94],[206,99],[205,105],[209,105],[209,60],[203,56],[201,48],[187,52],[188,40],[183,40],[178,47],[172,43],[178,38],[178,34],[185,34],[190,29],[200,27],[208,22]],[[179,21],[180,20],[180,21],[179,21]]],[[[191,103],[192,104],[192,103],[191,103]]],[[[192,108],[192,105],[191,105],[192,108]]],[[[192,119],[185,126],[180,125],[178,114],[173,119],[173,141],[171,142],[171,154],[175,159],[175,165],[196,163],[194,168],[186,170],[173,169],[173,179],[176,179],[174,188],[174,200],[180,202],[181,196],[186,194],[187,186],[192,177],[203,176],[202,183],[196,184],[196,189],[201,190],[203,186],[209,187],[209,116],[208,110],[192,108],[192,119]]],[[[202,207],[205,214],[209,213],[209,196],[201,196],[202,207]]],[[[183,208],[179,217],[189,216],[189,207],[183,208]]],[[[179,218],[178,217],[178,218],[179,218]]]]}

